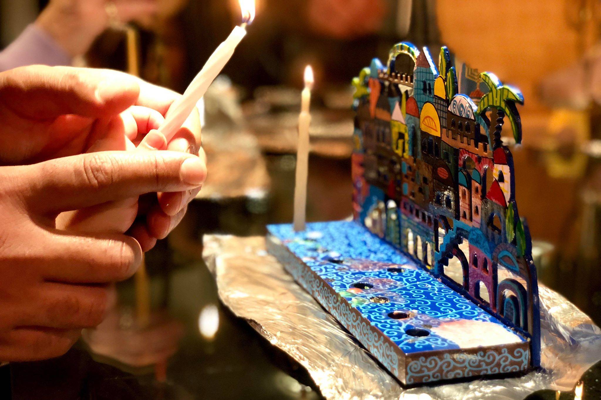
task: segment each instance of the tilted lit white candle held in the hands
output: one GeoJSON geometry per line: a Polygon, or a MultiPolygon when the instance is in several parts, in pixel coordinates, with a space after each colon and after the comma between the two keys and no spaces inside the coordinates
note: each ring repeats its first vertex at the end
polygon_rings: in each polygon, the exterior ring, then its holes
{"type": "Polygon", "coordinates": [[[174,104],[169,107],[165,116],[165,122],[159,127],[159,131],[165,135],[167,142],[172,139],[175,132],[182,127],[186,118],[190,115],[198,100],[200,100],[207,91],[213,80],[219,75],[225,67],[231,56],[234,54],[236,46],[246,35],[246,25],[251,23],[255,17],[254,0],[239,0],[240,10],[242,10],[242,25],[236,26],[231,31],[230,36],[213,52],[204,67],[198,75],[192,80],[188,89],[184,92],[174,104]]]}

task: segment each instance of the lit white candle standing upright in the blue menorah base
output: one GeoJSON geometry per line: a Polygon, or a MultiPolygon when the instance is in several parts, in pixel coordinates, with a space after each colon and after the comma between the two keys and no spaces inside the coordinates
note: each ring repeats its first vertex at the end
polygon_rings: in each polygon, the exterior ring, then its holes
{"type": "Polygon", "coordinates": [[[313,70],[305,68],[305,88],[302,91],[301,114],[299,115],[299,139],[296,150],[296,182],[294,186],[294,230],[305,230],[307,214],[307,172],[309,164],[309,125],[311,125],[311,89],[313,70]]]}

